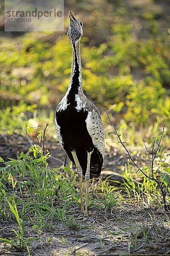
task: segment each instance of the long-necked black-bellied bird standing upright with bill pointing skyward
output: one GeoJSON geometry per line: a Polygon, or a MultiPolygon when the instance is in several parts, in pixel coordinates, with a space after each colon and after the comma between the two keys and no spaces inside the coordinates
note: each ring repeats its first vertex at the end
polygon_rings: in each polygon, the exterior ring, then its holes
{"type": "Polygon", "coordinates": [[[105,156],[105,136],[99,109],[82,89],[80,41],[83,35],[82,20],[69,11],[67,35],[71,41],[73,58],[68,90],[57,105],[54,124],[57,139],[74,163],[79,177],[80,214],[88,217],[89,179],[98,178],[105,156]],[[85,210],[83,205],[82,177],[85,176],[85,210]]]}

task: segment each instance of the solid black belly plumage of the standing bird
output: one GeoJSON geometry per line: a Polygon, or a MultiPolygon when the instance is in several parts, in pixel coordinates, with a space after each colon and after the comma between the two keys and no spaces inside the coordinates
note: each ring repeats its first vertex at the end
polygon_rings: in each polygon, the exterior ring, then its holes
{"type": "Polygon", "coordinates": [[[57,124],[60,127],[63,148],[74,163],[71,151],[75,151],[79,164],[82,167],[82,174],[85,175],[87,169],[87,152],[92,152],[90,162],[90,178],[98,178],[103,164],[103,157],[99,150],[94,146],[92,138],[88,133],[85,120],[88,111],[83,109],[77,111],[76,108],[68,107],[65,110],[56,111],[57,124]]]}

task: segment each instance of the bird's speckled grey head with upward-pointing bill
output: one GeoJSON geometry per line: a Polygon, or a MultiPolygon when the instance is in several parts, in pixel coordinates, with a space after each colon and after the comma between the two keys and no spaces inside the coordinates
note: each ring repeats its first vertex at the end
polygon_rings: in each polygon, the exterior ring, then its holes
{"type": "Polygon", "coordinates": [[[69,12],[68,16],[70,18],[70,21],[68,25],[67,35],[70,38],[71,43],[75,44],[75,42],[78,41],[83,34],[83,23],[82,20],[79,20],[76,17],[74,17],[71,11],[69,12]]]}

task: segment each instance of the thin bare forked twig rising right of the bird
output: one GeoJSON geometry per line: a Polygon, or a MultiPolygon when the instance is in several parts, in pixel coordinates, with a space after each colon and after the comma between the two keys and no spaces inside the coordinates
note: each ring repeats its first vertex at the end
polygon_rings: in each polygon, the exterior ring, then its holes
{"type": "MultiPolygon", "coordinates": [[[[154,160],[155,160],[155,158],[156,158],[156,154],[157,154],[157,152],[158,152],[158,150],[159,150],[159,145],[160,145],[160,143],[161,143],[161,140],[162,140],[162,137],[163,137],[163,134],[164,134],[165,124],[164,124],[164,127],[163,127],[163,131],[162,131],[162,134],[161,134],[161,138],[160,138],[159,143],[158,143],[158,148],[156,149],[156,152],[155,152],[154,157],[153,157],[153,150],[152,150],[152,165],[151,165],[151,166],[152,166],[152,168],[151,168],[152,177],[149,177],[149,176],[148,176],[146,173],[144,173],[144,172],[142,171],[142,169],[139,168],[139,166],[133,161],[133,158],[131,157],[129,151],[127,150],[127,148],[126,148],[126,146],[125,146],[125,144],[122,142],[122,140],[121,140],[121,138],[120,138],[120,135],[117,133],[117,130],[116,130],[116,128],[115,128],[113,122],[111,121],[110,116],[108,115],[108,113],[107,113],[107,111],[105,110],[105,108],[104,108],[104,111],[106,112],[109,121],[110,121],[111,124],[113,125],[113,128],[114,128],[114,130],[115,130],[115,135],[119,138],[119,143],[121,143],[122,146],[125,148],[125,151],[127,152],[128,156],[130,157],[130,160],[132,161],[132,163],[138,168],[138,170],[139,170],[140,172],[143,173],[143,175],[144,175],[145,177],[147,177],[147,178],[150,179],[150,180],[154,180],[154,181],[158,184],[158,186],[159,186],[159,188],[160,188],[160,190],[161,190],[161,194],[162,194],[162,198],[163,198],[163,202],[164,202],[164,209],[165,209],[165,211],[168,211],[167,204],[166,204],[166,199],[165,199],[166,193],[164,193],[164,189],[163,189],[163,187],[162,187],[162,185],[161,185],[161,182],[160,182],[159,180],[157,180],[156,178],[153,177],[153,163],[154,163],[154,160]]],[[[153,143],[153,148],[154,148],[154,143],[153,143]]]]}

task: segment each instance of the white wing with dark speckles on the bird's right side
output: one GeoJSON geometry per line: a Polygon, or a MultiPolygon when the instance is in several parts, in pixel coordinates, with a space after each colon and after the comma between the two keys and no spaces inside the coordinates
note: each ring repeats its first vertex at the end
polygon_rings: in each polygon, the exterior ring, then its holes
{"type": "Polygon", "coordinates": [[[102,119],[98,108],[96,108],[96,106],[94,107],[95,108],[88,112],[88,116],[85,122],[87,124],[88,133],[92,138],[94,146],[99,150],[104,159],[105,135],[102,125],[102,119]]]}

